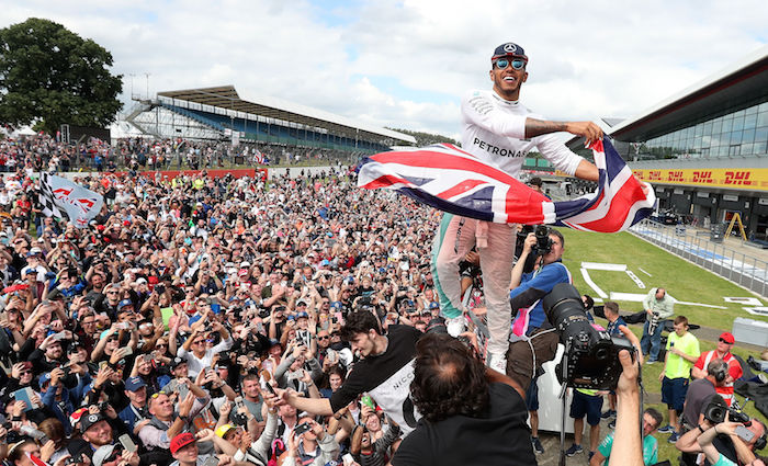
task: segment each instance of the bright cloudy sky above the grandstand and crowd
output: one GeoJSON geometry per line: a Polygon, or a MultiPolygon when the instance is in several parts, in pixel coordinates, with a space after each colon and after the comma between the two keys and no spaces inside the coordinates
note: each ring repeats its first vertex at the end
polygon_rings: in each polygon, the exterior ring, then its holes
{"type": "Polygon", "coordinates": [[[529,57],[521,102],[551,120],[631,117],[768,44],[765,0],[0,0],[92,38],[131,92],[233,84],[365,124],[459,138],[496,46],[529,57]],[[148,77],[147,77],[148,73],[148,77]],[[132,76],[133,75],[133,76],[132,76]]]}

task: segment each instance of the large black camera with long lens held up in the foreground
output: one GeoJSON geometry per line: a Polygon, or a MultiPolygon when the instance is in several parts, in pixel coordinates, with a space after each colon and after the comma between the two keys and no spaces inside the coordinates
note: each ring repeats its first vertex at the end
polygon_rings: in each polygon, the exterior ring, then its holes
{"type": "Polygon", "coordinates": [[[628,350],[634,359],[632,343],[623,337],[611,337],[592,327],[584,311],[580,294],[571,284],[555,285],[544,296],[542,304],[547,319],[557,329],[560,340],[565,345],[563,361],[557,367],[560,382],[574,388],[615,388],[622,371],[619,351],[628,350]]]}

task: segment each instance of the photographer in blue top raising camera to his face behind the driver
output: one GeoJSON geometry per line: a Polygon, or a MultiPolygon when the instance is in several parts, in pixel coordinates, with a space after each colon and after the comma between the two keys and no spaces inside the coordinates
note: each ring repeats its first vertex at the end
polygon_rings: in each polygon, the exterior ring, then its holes
{"type": "Polygon", "coordinates": [[[512,343],[507,353],[507,374],[523,389],[528,389],[541,365],[552,360],[557,350],[558,334],[547,331],[552,326],[544,315],[541,299],[556,284],[572,282],[571,272],[561,262],[564,250],[565,239],[560,231],[546,228],[539,235],[531,232],[526,237],[522,252],[512,268],[509,298],[512,315],[517,315],[512,320],[512,343]],[[540,245],[538,237],[546,240],[549,250],[542,248],[545,245],[540,245]],[[524,273],[526,262],[534,247],[541,258],[534,271],[524,273]]]}

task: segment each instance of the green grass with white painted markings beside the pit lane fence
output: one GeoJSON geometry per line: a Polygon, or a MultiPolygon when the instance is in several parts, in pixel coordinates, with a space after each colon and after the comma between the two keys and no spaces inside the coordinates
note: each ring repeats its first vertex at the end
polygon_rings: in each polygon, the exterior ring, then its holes
{"type": "MultiPolygon", "coordinates": [[[[741,305],[725,303],[724,296],[755,296],[752,292],[742,288],[725,279],[693,265],[665,250],[657,248],[631,234],[598,235],[571,229],[561,229],[565,237],[565,254],[563,263],[568,268],[574,277],[574,285],[579,292],[595,296],[594,291],[586,284],[579,271],[581,262],[607,262],[626,264],[634,272],[646,288],[641,289],[624,272],[590,271],[592,281],[603,292],[647,293],[648,288],[664,286],[676,299],[691,303],[701,303],[724,306],[725,309],[713,309],[700,306],[675,305],[676,315],[685,315],[693,322],[705,327],[730,331],[736,317],[746,317],[755,320],[768,321],[767,317],[754,316],[742,309],[741,305]],[[648,276],[641,272],[653,276],[648,276]]],[[[767,300],[764,300],[767,302],[767,300]]],[[[618,302],[622,311],[635,312],[642,310],[640,303],[618,302]]],[[[605,326],[603,319],[597,319],[605,326]]],[[[631,330],[640,338],[643,328],[640,325],[631,326],[631,330]]],[[[710,351],[715,346],[714,341],[699,339],[701,351],[710,351]]],[[[749,351],[739,348],[733,352],[743,359],[747,359],[749,351]]],[[[755,354],[753,354],[755,355],[755,354]]],[[[648,394],[660,394],[662,384],[658,376],[663,364],[643,366],[643,385],[648,394]]],[[[744,399],[736,396],[739,405],[744,406],[744,399]]],[[[667,423],[667,407],[663,404],[645,404],[646,407],[656,408],[664,414],[667,423]]],[[[744,409],[749,416],[767,421],[755,405],[749,402],[744,409]]],[[[606,432],[601,433],[602,435],[606,432]]],[[[655,434],[658,440],[658,459],[669,459],[677,464],[679,452],[673,444],[667,443],[668,434],[655,434]]]]}

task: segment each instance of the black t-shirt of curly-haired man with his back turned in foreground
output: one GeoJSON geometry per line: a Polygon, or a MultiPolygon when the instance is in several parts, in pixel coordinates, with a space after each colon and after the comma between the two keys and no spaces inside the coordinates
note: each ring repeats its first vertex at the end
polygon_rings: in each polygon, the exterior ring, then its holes
{"type": "Polygon", "coordinates": [[[407,465],[535,465],[528,409],[506,384],[488,386],[490,402],[482,418],[453,416],[440,422],[422,419],[392,461],[407,465]]]}

